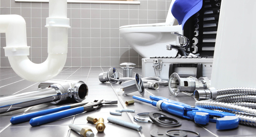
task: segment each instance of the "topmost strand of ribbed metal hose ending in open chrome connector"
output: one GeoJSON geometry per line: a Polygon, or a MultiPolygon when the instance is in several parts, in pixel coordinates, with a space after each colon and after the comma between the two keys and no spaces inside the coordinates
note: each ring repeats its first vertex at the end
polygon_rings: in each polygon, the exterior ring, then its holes
{"type": "Polygon", "coordinates": [[[229,94],[246,94],[246,95],[256,95],[256,88],[247,88],[247,87],[236,87],[236,88],[220,88],[216,89],[214,87],[207,88],[206,90],[195,90],[195,100],[206,100],[206,99],[215,99],[220,95],[229,95],[229,94]]]}

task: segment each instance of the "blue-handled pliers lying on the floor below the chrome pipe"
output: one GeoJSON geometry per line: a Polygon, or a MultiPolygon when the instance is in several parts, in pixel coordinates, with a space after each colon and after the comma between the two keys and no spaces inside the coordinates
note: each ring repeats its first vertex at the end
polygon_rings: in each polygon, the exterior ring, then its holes
{"type": "Polygon", "coordinates": [[[91,100],[91,102],[80,102],[71,105],[56,107],[23,115],[17,115],[11,118],[12,124],[30,121],[31,126],[39,126],[61,118],[80,114],[85,111],[91,111],[101,108],[102,104],[117,104],[117,100],[91,100]]]}

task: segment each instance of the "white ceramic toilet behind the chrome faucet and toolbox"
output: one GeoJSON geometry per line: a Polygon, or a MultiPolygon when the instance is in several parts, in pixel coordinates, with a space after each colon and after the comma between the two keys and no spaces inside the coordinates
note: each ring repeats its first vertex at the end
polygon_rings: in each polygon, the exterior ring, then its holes
{"type": "Polygon", "coordinates": [[[181,25],[173,26],[175,18],[171,9],[174,1],[170,4],[165,23],[136,24],[119,28],[121,37],[143,58],[176,56],[176,50],[166,50],[167,44],[180,45],[178,37],[171,32],[183,34],[181,25]]]}

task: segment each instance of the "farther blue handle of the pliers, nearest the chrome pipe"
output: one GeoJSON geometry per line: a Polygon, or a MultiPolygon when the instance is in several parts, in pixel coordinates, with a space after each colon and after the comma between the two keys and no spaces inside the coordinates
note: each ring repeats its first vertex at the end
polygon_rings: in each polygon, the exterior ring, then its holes
{"type": "Polygon", "coordinates": [[[61,107],[56,107],[53,109],[46,109],[46,110],[32,112],[32,113],[28,113],[28,114],[17,115],[17,116],[12,117],[10,122],[12,124],[23,123],[23,122],[30,121],[31,118],[35,118],[35,117],[39,117],[42,115],[47,115],[47,114],[51,114],[51,113],[55,113],[55,112],[59,112],[59,111],[67,110],[67,109],[71,109],[71,107],[70,106],[61,106],[61,107]]]}

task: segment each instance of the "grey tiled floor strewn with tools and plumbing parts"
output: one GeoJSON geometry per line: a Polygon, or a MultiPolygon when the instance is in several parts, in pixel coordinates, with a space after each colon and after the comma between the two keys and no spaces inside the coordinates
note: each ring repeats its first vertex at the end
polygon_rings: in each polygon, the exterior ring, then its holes
{"type": "MultiPolygon", "coordinates": [[[[31,127],[29,122],[11,125],[10,118],[14,115],[30,113],[33,111],[49,109],[60,105],[52,105],[50,103],[42,104],[39,106],[29,107],[22,110],[16,110],[9,113],[0,115],[0,137],[80,137],[79,134],[69,130],[68,124],[74,123],[76,125],[89,127],[93,130],[95,137],[150,137],[150,131],[158,128],[159,133],[164,133],[170,129],[183,129],[192,130],[200,133],[201,137],[233,137],[233,136],[256,136],[255,128],[239,125],[238,128],[232,130],[217,130],[216,123],[208,123],[207,125],[198,125],[192,120],[184,119],[181,117],[174,118],[181,121],[182,125],[176,128],[165,128],[151,123],[136,123],[134,122],[133,115],[143,112],[157,111],[157,108],[150,104],[135,101],[134,105],[125,106],[124,102],[132,100],[133,95],[141,96],[138,92],[133,92],[128,95],[116,95],[114,89],[120,88],[119,84],[101,83],[98,80],[98,75],[101,72],[106,72],[109,67],[72,67],[63,68],[63,71],[54,79],[61,80],[82,80],[89,87],[89,94],[85,102],[95,98],[102,98],[105,100],[118,100],[118,104],[114,106],[104,106],[99,110],[83,113],[68,118],[60,119],[42,126],[31,127]],[[121,116],[110,115],[110,110],[115,109],[134,109],[135,113],[123,113],[121,116]],[[104,133],[97,133],[95,125],[87,123],[86,118],[88,115],[104,118],[106,129],[104,133]],[[119,125],[112,124],[107,121],[108,117],[119,118],[124,121],[133,122],[143,127],[141,132],[132,129],[124,128],[119,125]]],[[[120,77],[122,76],[122,69],[115,67],[119,70],[120,77]]],[[[134,73],[142,74],[142,69],[136,67],[133,69],[134,73]]],[[[23,80],[11,68],[0,68],[0,95],[18,94],[27,91],[37,90],[38,83],[23,80]]],[[[195,100],[188,94],[180,94],[176,98],[171,97],[167,87],[161,86],[159,90],[146,89],[144,98],[149,98],[150,95],[163,96],[172,100],[183,102],[194,106],[195,100]]],[[[61,104],[63,105],[63,104],[61,104]]],[[[189,136],[188,136],[189,137],[189,136]]]]}

